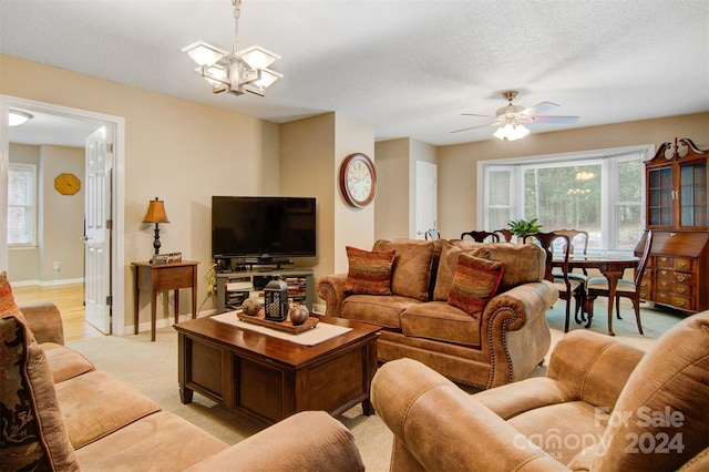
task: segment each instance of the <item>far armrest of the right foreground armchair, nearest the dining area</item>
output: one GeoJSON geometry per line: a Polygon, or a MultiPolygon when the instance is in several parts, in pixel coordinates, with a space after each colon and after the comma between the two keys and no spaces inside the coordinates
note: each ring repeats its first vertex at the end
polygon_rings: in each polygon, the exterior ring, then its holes
{"type": "Polygon", "coordinates": [[[569,400],[610,411],[644,355],[607,335],[574,330],[554,347],[546,376],[563,386],[569,400]]]}

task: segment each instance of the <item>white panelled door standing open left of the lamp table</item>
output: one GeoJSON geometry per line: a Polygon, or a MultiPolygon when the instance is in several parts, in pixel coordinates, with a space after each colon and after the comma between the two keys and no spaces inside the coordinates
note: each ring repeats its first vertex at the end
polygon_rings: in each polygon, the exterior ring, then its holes
{"type": "Polygon", "coordinates": [[[113,126],[86,137],[84,280],[86,321],[111,334],[111,171],[113,126]]]}

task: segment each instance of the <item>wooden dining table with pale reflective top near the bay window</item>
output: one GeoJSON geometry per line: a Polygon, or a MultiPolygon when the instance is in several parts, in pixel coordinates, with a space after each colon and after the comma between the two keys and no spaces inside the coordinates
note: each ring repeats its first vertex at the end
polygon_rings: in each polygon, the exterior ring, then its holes
{"type": "MultiPolygon", "coordinates": [[[[564,268],[568,271],[574,269],[597,269],[608,280],[608,335],[616,336],[613,332],[613,307],[616,298],[616,288],[618,280],[623,278],[626,269],[636,269],[640,259],[633,255],[618,253],[594,253],[594,254],[569,254],[568,261],[562,255],[554,255],[552,267],[564,268]]],[[[588,320],[586,328],[590,327],[592,310],[586,307],[588,320]]]]}

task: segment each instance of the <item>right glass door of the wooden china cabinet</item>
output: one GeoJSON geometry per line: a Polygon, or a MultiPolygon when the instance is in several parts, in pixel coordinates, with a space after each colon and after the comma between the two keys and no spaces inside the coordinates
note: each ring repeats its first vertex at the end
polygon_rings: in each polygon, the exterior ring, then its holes
{"type": "Polygon", "coordinates": [[[680,226],[709,226],[707,205],[707,163],[680,167],[680,226]]]}

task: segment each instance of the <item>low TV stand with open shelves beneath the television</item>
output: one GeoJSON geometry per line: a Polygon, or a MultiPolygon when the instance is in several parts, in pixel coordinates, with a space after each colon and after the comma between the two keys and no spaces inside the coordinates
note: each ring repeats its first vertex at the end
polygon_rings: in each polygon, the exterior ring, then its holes
{"type": "Polygon", "coordinates": [[[222,314],[240,308],[244,300],[250,297],[263,298],[264,287],[275,276],[279,276],[288,286],[288,298],[292,298],[294,302],[304,304],[308,307],[308,310],[312,310],[315,301],[312,269],[304,267],[282,268],[281,261],[280,264],[270,265],[254,263],[238,265],[236,268],[217,270],[217,312],[222,314]]]}

